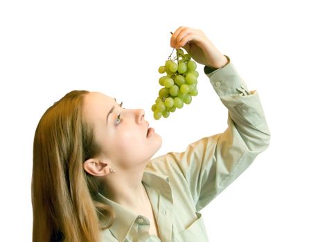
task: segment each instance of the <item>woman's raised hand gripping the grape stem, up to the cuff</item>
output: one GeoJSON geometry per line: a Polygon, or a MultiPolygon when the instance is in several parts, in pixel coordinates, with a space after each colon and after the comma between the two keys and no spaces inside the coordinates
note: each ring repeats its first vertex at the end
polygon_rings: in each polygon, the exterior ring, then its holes
{"type": "Polygon", "coordinates": [[[172,48],[184,48],[200,64],[221,68],[227,64],[227,58],[215,48],[202,30],[181,26],[170,39],[172,48]]]}

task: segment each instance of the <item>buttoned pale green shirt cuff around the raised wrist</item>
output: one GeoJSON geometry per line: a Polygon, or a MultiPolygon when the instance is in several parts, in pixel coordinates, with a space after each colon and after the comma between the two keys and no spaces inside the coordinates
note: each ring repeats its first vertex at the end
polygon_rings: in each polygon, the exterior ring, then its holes
{"type": "Polygon", "coordinates": [[[210,82],[218,95],[250,95],[245,82],[242,80],[231,59],[224,55],[228,63],[221,68],[204,66],[204,73],[210,78],[210,82]]]}

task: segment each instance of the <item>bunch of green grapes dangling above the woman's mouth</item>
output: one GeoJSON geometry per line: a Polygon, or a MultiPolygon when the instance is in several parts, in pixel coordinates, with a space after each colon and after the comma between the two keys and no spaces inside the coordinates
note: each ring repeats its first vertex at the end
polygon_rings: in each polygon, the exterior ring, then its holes
{"type": "Polygon", "coordinates": [[[177,50],[176,57],[171,58],[171,55],[165,65],[158,69],[159,73],[165,75],[159,78],[162,88],[151,108],[156,120],[168,118],[176,109],[190,104],[192,97],[197,95],[197,64],[182,49],[177,50]]]}

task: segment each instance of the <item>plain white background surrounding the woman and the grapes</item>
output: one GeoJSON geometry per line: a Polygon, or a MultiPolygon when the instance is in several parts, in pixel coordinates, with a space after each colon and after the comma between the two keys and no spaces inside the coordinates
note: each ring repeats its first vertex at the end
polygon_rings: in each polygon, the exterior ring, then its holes
{"type": "Polygon", "coordinates": [[[318,241],[315,1],[1,1],[1,238],[31,241],[33,135],[73,89],[145,109],[155,156],[224,131],[227,110],[199,66],[199,95],[152,118],[170,31],[204,30],[260,95],[269,149],[202,210],[211,241],[318,241]]]}

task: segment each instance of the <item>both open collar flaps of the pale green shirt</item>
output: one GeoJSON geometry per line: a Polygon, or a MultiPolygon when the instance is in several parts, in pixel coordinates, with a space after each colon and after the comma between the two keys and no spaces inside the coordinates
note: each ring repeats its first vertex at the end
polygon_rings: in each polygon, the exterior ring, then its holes
{"type": "MultiPolygon", "coordinates": [[[[151,171],[144,171],[142,182],[149,187],[159,189],[161,192],[167,192],[170,190],[168,176],[161,174],[154,174],[151,171]]],[[[106,198],[102,194],[98,194],[107,205],[110,205],[115,212],[114,223],[109,227],[110,232],[118,239],[118,241],[124,241],[127,234],[130,232],[134,221],[138,218],[139,214],[134,214],[130,210],[127,210],[122,205],[115,203],[114,201],[106,198]]]]}

